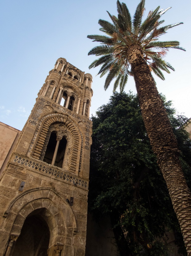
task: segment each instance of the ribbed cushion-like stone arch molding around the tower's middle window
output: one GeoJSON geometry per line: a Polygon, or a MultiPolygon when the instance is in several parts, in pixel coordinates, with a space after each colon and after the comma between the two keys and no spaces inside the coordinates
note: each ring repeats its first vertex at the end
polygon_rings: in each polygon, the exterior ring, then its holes
{"type": "MultiPolygon", "coordinates": [[[[49,127],[52,124],[64,124],[67,131],[71,134],[71,148],[70,154],[68,154],[68,171],[78,171],[80,159],[78,158],[78,152],[81,151],[81,144],[83,137],[77,125],[68,118],[67,115],[56,115],[55,113],[44,116],[40,121],[39,125],[34,134],[32,144],[35,145],[33,150],[29,150],[27,156],[32,154],[33,158],[40,159],[41,152],[49,131],[49,127]],[[32,153],[31,153],[32,151],[32,153]]],[[[81,154],[80,154],[81,157],[81,154]]]]}

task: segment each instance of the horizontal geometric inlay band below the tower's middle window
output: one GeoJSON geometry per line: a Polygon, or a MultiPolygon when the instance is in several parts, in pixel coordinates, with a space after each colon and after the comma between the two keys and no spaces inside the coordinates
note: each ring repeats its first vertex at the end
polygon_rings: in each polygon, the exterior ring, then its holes
{"type": "Polygon", "coordinates": [[[87,187],[87,181],[78,179],[77,177],[72,177],[71,175],[68,175],[68,174],[64,173],[63,171],[56,170],[54,168],[45,166],[41,163],[37,163],[35,161],[31,161],[29,159],[25,159],[25,158],[18,157],[18,156],[15,156],[14,162],[16,162],[20,165],[28,166],[34,170],[38,170],[38,171],[47,173],[49,175],[54,176],[55,178],[62,179],[68,183],[72,183],[75,186],[82,186],[85,188],[87,187]]]}

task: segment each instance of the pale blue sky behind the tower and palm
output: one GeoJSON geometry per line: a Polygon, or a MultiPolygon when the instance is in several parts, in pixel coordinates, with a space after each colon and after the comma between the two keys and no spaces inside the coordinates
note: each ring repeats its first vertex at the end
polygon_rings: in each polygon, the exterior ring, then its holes
{"type": "MultiPolygon", "coordinates": [[[[139,0],[124,1],[133,15],[139,0]]],[[[155,78],[159,92],[173,100],[177,111],[191,117],[190,108],[190,1],[146,0],[146,11],[172,6],[163,15],[165,24],[184,22],[169,30],[162,39],[178,40],[186,52],[172,49],[166,60],[175,72],[165,74],[165,81],[155,78]]],[[[1,58],[0,58],[0,121],[22,129],[39,89],[59,57],[93,76],[94,95],[91,113],[108,102],[112,86],[103,89],[104,78],[96,76],[98,69],[88,69],[94,56],[88,51],[97,45],[87,38],[99,34],[98,20],[109,20],[116,15],[116,0],[61,1],[61,0],[7,0],[1,2],[1,58]]],[[[130,79],[125,91],[136,93],[130,79]]]]}

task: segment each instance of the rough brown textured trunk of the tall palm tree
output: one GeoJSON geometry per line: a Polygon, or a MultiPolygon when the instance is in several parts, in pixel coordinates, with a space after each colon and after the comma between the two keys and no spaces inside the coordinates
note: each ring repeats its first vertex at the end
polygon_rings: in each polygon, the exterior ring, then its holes
{"type": "Polygon", "coordinates": [[[181,169],[177,140],[140,46],[129,48],[128,60],[132,66],[145,128],[169,189],[187,253],[191,256],[191,195],[181,169]]]}

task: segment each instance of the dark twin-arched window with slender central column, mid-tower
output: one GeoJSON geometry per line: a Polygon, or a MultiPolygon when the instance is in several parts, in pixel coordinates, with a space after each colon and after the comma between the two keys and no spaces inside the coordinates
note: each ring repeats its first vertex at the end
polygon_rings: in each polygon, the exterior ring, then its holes
{"type": "Polygon", "coordinates": [[[51,132],[43,161],[62,168],[67,140],[65,137],[61,140],[56,139],[56,132],[51,132]]]}

